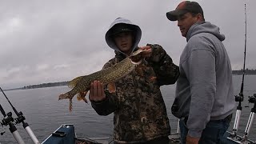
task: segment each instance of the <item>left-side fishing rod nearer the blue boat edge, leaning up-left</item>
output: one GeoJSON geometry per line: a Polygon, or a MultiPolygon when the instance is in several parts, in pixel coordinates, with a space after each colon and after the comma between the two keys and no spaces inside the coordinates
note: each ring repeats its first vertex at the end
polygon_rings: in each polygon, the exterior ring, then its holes
{"type": "Polygon", "coordinates": [[[34,144],[39,144],[38,138],[36,138],[33,131],[30,129],[29,124],[27,122],[24,122],[24,120],[26,118],[23,116],[22,111],[18,112],[15,109],[15,107],[11,104],[10,100],[7,98],[6,94],[3,92],[1,87],[0,87],[0,90],[2,91],[2,94],[6,97],[7,101],[10,103],[10,106],[12,107],[12,109],[14,110],[15,114],[18,117],[18,118],[15,118],[16,123],[21,123],[22,122],[23,128],[26,130],[26,133],[29,134],[29,136],[32,139],[32,141],[34,142],[34,144]]]}

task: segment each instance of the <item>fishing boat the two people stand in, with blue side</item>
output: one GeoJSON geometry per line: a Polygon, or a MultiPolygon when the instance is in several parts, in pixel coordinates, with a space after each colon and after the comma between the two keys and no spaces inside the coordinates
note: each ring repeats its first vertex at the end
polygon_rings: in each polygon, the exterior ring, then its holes
{"type": "MultiPolygon", "coordinates": [[[[226,131],[224,134],[223,144],[256,144],[256,141],[248,139],[248,135],[250,134],[250,128],[252,125],[252,120],[254,119],[254,114],[256,110],[256,94],[254,94],[254,108],[252,108],[252,112],[250,114],[250,118],[248,120],[245,134],[243,136],[234,134],[233,132],[226,131]]],[[[179,122],[179,120],[178,120],[179,122]]],[[[237,126],[237,123],[234,123],[234,126],[237,126]]],[[[179,133],[179,128],[177,126],[177,131],[175,133],[171,133],[170,136],[170,144],[179,144],[181,143],[180,138],[181,135],[179,133]]],[[[74,125],[63,124],[58,127],[46,140],[42,142],[42,144],[111,144],[114,143],[114,140],[111,137],[100,137],[100,138],[78,138],[74,131],[74,125]]]]}

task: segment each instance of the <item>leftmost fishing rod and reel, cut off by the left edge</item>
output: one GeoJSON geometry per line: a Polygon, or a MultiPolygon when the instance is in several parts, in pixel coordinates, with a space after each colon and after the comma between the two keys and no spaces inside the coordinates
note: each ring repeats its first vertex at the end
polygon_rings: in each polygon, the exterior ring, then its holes
{"type": "MultiPolygon", "coordinates": [[[[2,89],[1,89],[2,90],[2,89]]],[[[9,130],[10,133],[13,134],[15,140],[18,142],[18,144],[25,144],[25,142],[23,141],[21,135],[18,133],[17,128],[14,126],[13,122],[14,122],[14,118],[12,117],[11,112],[7,113],[5,112],[5,110],[3,110],[1,104],[0,104],[0,111],[2,113],[2,115],[4,116],[4,118],[2,119],[2,122],[0,122],[0,124],[2,126],[10,126],[9,130]]],[[[2,132],[2,134],[4,134],[5,132],[2,132]]]]}

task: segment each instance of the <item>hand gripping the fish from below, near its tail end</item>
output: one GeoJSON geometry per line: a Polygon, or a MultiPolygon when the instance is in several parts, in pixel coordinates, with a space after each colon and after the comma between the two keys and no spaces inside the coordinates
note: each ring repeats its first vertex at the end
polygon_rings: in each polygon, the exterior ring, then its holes
{"type": "Polygon", "coordinates": [[[104,86],[99,81],[91,82],[90,84],[90,101],[100,102],[106,98],[104,86]]]}

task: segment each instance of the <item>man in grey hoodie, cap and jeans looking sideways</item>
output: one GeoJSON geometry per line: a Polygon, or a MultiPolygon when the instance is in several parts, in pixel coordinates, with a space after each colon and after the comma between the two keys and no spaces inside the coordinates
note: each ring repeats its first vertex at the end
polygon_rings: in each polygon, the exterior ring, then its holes
{"type": "Polygon", "coordinates": [[[218,26],[205,22],[198,2],[181,2],[166,17],[178,21],[187,42],[172,106],[172,114],[181,118],[182,143],[221,143],[235,107],[225,36],[218,26]]]}

